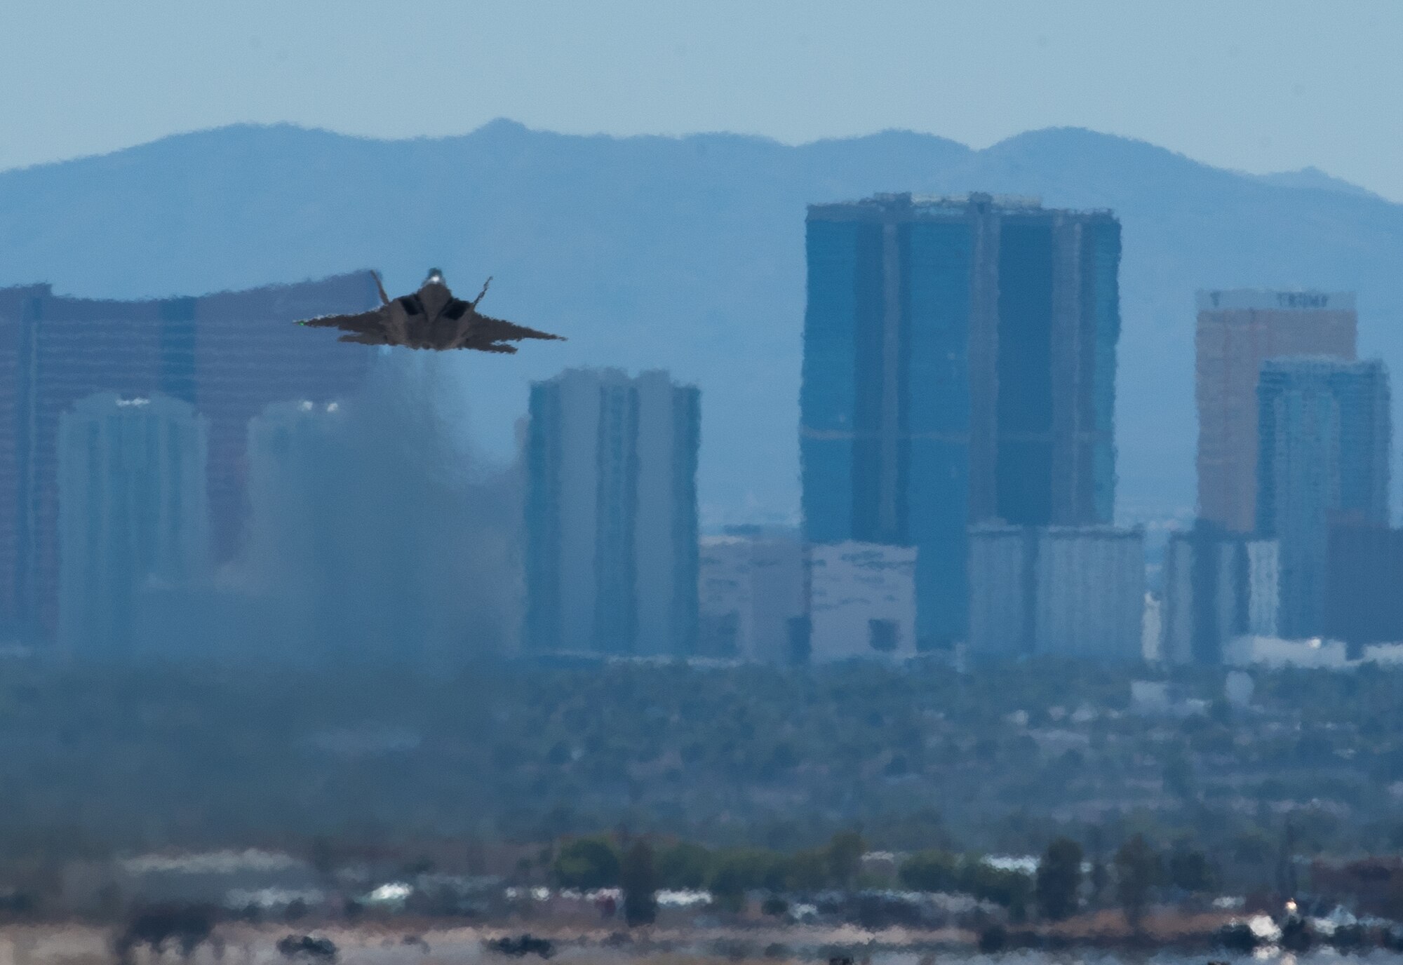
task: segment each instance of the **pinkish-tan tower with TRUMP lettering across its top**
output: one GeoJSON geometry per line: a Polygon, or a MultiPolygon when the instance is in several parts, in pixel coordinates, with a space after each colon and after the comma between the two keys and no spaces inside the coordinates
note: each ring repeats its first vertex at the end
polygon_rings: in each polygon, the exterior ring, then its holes
{"type": "Polygon", "coordinates": [[[1351,292],[1198,293],[1198,516],[1228,532],[1257,525],[1257,379],[1271,358],[1352,359],[1351,292]]]}

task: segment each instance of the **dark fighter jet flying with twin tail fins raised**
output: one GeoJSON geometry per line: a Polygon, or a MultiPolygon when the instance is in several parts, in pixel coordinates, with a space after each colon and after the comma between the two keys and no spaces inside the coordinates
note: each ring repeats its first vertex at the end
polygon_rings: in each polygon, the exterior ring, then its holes
{"type": "MultiPolygon", "coordinates": [[[[375,272],[372,272],[375,274],[375,272]]],[[[348,332],[338,341],[361,345],[407,345],[445,352],[453,348],[471,348],[478,352],[515,352],[523,338],[561,339],[561,335],[515,325],[501,318],[480,314],[477,303],[487,295],[488,278],[483,290],[471,302],[453,297],[443,283],[443,272],[431,268],[424,285],[414,295],[390,299],[384,293],[380,276],[375,275],[375,286],[380,289],[383,304],[375,311],[358,316],[323,316],[299,321],[299,325],[313,328],[341,328],[348,332]]]]}

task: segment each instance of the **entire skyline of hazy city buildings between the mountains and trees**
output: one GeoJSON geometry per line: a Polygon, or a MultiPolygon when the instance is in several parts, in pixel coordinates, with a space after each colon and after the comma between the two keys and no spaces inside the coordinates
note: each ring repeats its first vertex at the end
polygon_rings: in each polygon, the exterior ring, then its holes
{"type": "MultiPolygon", "coordinates": [[[[1200,515],[1148,567],[1143,527],[1115,525],[1114,212],[895,194],[812,205],[800,230],[800,525],[702,532],[696,386],[610,369],[533,383],[502,652],[1403,659],[1389,373],[1357,358],[1354,293],[1186,293],[1200,515]]],[[[283,658],[313,652],[297,641],[340,605],[318,616],[333,591],[290,595],[281,571],[337,553],[316,464],[368,470],[345,425],[396,362],[288,323],[373,304],[368,271],[160,302],[0,290],[17,642],[201,659],[274,633],[283,658]]]]}

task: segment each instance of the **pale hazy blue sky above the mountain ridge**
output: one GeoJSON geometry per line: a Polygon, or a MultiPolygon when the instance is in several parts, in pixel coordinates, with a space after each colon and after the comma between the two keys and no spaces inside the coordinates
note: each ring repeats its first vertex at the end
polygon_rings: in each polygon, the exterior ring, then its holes
{"type": "Polygon", "coordinates": [[[1399,0],[6,0],[0,168],[237,121],[384,137],[1076,125],[1403,201],[1399,0]]]}

